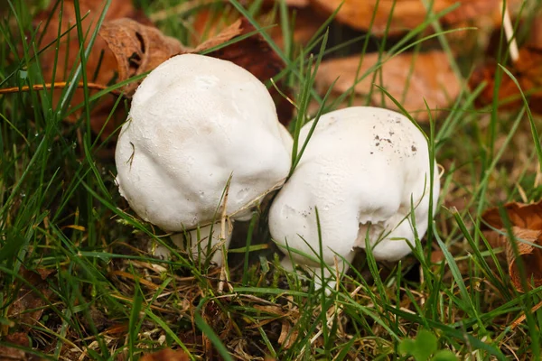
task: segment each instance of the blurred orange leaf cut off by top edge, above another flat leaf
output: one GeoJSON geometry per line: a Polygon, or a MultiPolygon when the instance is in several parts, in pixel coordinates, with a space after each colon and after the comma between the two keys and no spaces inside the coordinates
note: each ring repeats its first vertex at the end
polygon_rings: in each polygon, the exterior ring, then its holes
{"type": "MultiPolygon", "coordinates": [[[[425,3],[420,0],[310,0],[313,7],[331,15],[342,3],[336,19],[358,30],[369,30],[373,14],[374,23],[370,31],[382,34],[404,32],[424,23],[427,16],[425,3]],[[378,5],[378,7],[377,7],[378,5]],[[393,13],[392,13],[393,10],[393,13]],[[391,21],[388,26],[388,19],[391,21]]],[[[433,13],[442,12],[458,0],[435,0],[433,13]]],[[[444,23],[458,23],[487,14],[499,12],[497,0],[459,0],[461,5],[451,13],[445,14],[444,23]]]]}

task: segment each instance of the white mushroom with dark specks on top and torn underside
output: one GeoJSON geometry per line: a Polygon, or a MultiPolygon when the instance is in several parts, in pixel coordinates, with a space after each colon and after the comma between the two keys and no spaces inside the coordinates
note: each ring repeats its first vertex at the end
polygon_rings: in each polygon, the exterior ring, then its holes
{"type": "MultiPolygon", "coordinates": [[[[300,144],[312,125],[301,129],[300,144]]],[[[433,212],[439,188],[434,177],[433,212]]],[[[430,190],[427,142],[406,116],[372,106],[337,110],[321,116],[301,161],[276,196],[269,213],[271,236],[318,258],[317,208],[322,262],[331,270],[343,271],[341,257],[350,262],[357,248],[365,248],[366,237],[377,260],[397,261],[410,253],[414,227],[419,237],[427,230],[430,190]],[[340,270],[335,270],[335,258],[340,270]]],[[[290,255],[317,277],[321,274],[320,263],[295,252],[286,255],[285,267],[291,267],[290,255]]],[[[334,275],[324,271],[326,277],[334,275]]]]}

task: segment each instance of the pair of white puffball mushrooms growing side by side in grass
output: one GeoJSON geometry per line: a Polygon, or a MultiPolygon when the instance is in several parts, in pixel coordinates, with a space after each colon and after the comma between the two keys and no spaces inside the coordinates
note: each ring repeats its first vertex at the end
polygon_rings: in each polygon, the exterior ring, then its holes
{"type": "Polygon", "coordinates": [[[336,279],[360,248],[377,260],[410,253],[440,186],[425,135],[370,106],[313,122],[301,129],[299,143],[313,133],[285,182],[293,140],[266,87],[229,61],[173,57],[135,92],[117,143],[119,192],[139,217],[177,233],[173,242],[194,259],[219,265],[217,245],[231,236],[222,216],[246,219],[283,184],[269,230],[287,249],[285,267],[300,264],[322,284],[320,274],[336,279]]]}

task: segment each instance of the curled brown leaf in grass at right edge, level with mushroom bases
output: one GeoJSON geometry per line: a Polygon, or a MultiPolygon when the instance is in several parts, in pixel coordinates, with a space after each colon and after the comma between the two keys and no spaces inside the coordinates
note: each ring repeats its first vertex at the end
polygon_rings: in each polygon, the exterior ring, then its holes
{"type": "Polygon", "coordinates": [[[506,236],[504,223],[500,218],[499,208],[491,208],[481,216],[489,226],[484,234],[491,246],[504,248],[509,265],[510,281],[514,287],[523,292],[522,280],[518,268],[521,259],[527,275],[527,284],[531,287],[542,285],[542,201],[534,204],[509,203],[504,206],[512,226],[515,239],[506,236]],[[492,230],[496,228],[500,233],[492,230]],[[502,234],[505,233],[505,235],[502,234]],[[518,257],[514,252],[514,244],[518,249],[518,257]]]}

